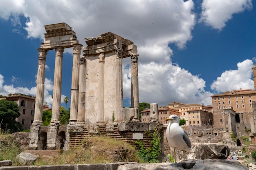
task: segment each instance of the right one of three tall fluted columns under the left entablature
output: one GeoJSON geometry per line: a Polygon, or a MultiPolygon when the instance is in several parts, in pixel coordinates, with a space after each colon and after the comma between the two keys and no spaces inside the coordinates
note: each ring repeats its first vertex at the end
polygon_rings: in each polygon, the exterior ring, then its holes
{"type": "Polygon", "coordinates": [[[80,61],[82,46],[83,45],[81,44],[75,44],[73,46],[70,121],[77,121],[78,93],[79,93],[79,61],[80,61]]]}

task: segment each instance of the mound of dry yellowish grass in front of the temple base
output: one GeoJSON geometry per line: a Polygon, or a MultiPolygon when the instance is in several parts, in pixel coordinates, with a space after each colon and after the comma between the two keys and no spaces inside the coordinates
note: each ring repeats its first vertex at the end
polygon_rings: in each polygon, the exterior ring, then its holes
{"type": "Polygon", "coordinates": [[[48,160],[38,159],[34,165],[141,162],[135,148],[109,137],[90,137],[81,141],[77,150],[62,151],[48,160]]]}

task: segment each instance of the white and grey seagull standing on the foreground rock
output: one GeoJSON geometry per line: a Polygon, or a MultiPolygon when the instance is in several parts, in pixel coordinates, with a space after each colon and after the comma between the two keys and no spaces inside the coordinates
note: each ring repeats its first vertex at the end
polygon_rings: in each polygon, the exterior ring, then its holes
{"type": "Polygon", "coordinates": [[[166,121],[170,121],[166,129],[166,141],[174,149],[174,162],[176,163],[176,149],[183,150],[183,161],[185,161],[185,151],[194,152],[191,149],[189,135],[180,127],[180,118],[177,115],[171,115],[166,121]]]}

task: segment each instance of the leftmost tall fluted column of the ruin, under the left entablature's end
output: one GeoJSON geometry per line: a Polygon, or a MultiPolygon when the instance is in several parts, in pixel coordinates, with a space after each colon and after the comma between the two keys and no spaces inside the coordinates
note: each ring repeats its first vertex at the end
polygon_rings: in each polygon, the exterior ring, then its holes
{"type": "Polygon", "coordinates": [[[36,78],[36,103],[34,122],[43,123],[43,101],[45,92],[45,60],[47,49],[38,49],[38,70],[36,78]]]}

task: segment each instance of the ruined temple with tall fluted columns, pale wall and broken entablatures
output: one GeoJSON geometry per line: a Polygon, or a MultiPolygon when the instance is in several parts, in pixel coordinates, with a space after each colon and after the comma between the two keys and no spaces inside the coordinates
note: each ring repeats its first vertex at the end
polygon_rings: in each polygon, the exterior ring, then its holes
{"type": "MultiPolygon", "coordinates": [[[[157,120],[139,122],[138,54],[137,46],[111,32],[85,38],[83,47],[72,27],[63,23],[45,26],[45,38],[38,57],[36,104],[30,128],[31,150],[69,150],[90,135],[108,135],[123,141],[140,139],[149,145],[148,134],[157,128],[163,139],[162,125],[157,120]],[[65,48],[73,48],[70,120],[61,126],[62,62],[65,48]],[[45,61],[49,50],[56,52],[52,119],[43,125],[45,61]],[[123,108],[123,58],[131,59],[131,108],[123,108]]],[[[157,105],[153,108],[157,108],[157,105]]],[[[157,110],[157,109],[156,109],[157,110]]],[[[162,140],[163,144],[163,140],[162,140]]],[[[163,149],[163,145],[162,145],[163,149]]]]}

